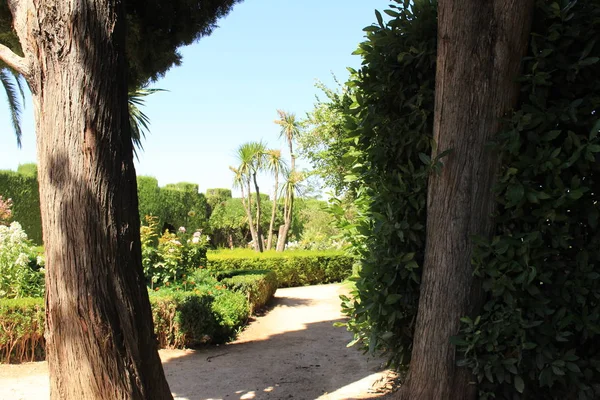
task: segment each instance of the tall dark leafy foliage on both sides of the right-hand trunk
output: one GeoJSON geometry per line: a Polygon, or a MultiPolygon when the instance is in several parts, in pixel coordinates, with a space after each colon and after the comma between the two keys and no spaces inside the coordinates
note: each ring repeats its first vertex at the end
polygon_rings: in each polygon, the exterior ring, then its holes
{"type": "MultiPolygon", "coordinates": [[[[346,158],[358,217],[333,210],[361,253],[356,341],[407,365],[424,253],[431,160],[436,5],[404,2],[367,27],[349,81],[346,158]]],[[[502,154],[496,230],[473,238],[485,305],[452,338],[480,398],[600,397],[600,4],[536,2],[519,104],[502,154]]],[[[434,145],[434,144],[433,144],[434,145]]]]}

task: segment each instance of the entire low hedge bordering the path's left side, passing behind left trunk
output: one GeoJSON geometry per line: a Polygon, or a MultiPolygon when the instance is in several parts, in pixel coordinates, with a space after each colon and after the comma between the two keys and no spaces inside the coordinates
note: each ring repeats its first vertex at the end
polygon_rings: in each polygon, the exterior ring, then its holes
{"type": "MultiPolygon", "coordinates": [[[[227,342],[277,290],[272,271],[223,271],[218,278],[197,270],[186,291],[150,292],[159,348],[227,342]]],[[[42,298],[0,299],[0,363],[43,360],[44,319],[42,298]]]]}

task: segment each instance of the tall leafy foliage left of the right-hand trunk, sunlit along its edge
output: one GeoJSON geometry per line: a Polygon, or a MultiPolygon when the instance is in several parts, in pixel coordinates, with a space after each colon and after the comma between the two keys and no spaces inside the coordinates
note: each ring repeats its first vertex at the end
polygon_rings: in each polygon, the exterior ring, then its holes
{"type": "MultiPolygon", "coordinates": [[[[394,7],[394,6],[392,6],[394,7]]],[[[346,159],[356,206],[348,221],[341,201],[332,212],[362,259],[344,310],[355,342],[384,351],[396,365],[410,360],[425,251],[427,178],[436,61],[436,5],[392,8],[393,18],[365,28],[346,96],[346,159]]]]}

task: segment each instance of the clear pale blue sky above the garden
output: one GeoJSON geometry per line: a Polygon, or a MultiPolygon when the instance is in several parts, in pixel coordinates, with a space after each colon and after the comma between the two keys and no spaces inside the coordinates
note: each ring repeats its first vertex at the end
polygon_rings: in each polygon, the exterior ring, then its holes
{"type": "MultiPolygon", "coordinates": [[[[363,41],[362,28],[388,0],[245,0],[219,21],[209,37],[182,48],[183,64],[150,87],[166,89],[146,99],[150,134],[136,163],[138,175],[161,186],[194,182],[200,191],[231,188],[235,149],[264,140],[281,148],[277,109],[304,117],[320,91],[316,80],[333,86],[346,67],[358,67],[351,53],[363,41]]],[[[2,94],[4,95],[3,91],[2,94]]],[[[4,97],[4,96],[2,96],[4,97]]],[[[0,100],[0,169],[35,162],[32,106],[23,115],[23,147],[17,148],[0,100]]],[[[266,178],[265,178],[266,179],[266,178]]],[[[263,180],[261,191],[270,192],[263,180]]]]}

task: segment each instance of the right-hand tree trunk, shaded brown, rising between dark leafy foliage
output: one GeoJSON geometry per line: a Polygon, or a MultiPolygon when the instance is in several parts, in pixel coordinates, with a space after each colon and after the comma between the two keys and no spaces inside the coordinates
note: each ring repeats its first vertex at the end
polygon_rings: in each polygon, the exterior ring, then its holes
{"type": "MultiPolygon", "coordinates": [[[[489,236],[497,154],[486,145],[518,100],[532,0],[440,0],[434,140],[451,149],[429,180],[427,244],[407,392],[410,400],[473,399],[470,372],[449,342],[481,305],[472,235],[489,236]]],[[[435,157],[436,154],[433,154],[435,157]]]]}

